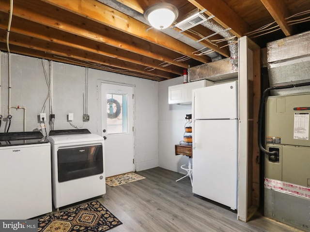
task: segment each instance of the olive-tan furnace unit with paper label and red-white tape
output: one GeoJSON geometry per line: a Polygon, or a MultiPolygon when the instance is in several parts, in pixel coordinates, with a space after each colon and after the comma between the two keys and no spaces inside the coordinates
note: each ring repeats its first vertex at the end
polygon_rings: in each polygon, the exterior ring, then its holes
{"type": "Polygon", "coordinates": [[[310,231],[310,94],[266,102],[264,215],[310,231]]]}

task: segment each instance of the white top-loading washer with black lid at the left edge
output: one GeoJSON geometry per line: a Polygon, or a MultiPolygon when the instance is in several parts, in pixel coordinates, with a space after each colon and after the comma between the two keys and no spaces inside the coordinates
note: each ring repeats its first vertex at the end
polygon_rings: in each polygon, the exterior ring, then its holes
{"type": "Polygon", "coordinates": [[[0,133],[0,219],[52,211],[50,144],[39,131],[0,133]]]}

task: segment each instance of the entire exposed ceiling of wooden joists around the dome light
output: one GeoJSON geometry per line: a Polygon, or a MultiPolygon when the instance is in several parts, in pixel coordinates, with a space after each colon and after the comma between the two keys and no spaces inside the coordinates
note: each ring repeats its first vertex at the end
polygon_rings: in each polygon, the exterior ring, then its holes
{"type": "MultiPolygon", "coordinates": [[[[305,0],[14,0],[10,50],[155,81],[230,57],[228,43],[222,40],[226,35],[212,35],[213,28],[149,29],[143,12],[158,2],[178,8],[174,24],[206,9],[203,14],[214,15],[212,20],[222,28],[231,28],[237,38],[248,35],[261,47],[310,30],[310,1],[305,0]],[[206,55],[207,51],[213,52],[206,55]]],[[[10,0],[0,0],[2,51],[7,51],[9,11],[10,0]]]]}

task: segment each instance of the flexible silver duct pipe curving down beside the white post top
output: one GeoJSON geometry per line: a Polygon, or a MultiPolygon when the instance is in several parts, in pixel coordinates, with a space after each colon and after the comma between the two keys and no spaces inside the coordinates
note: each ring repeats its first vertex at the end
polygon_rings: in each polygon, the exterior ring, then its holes
{"type": "MultiPolygon", "coordinates": [[[[234,36],[230,31],[225,30],[225,28],[223,28],[213,19],[207,20],[203,22],[201,25],[207,29],[213,30],[214,32],[218,32],[218,34],[220,34],[224,38],[231,38],[234,36]]],[[[229,51],[231,53],[232,60],[238,58],[238,44],[235,43],[236,41],[237,41],[237,38],[234,37],[232,39],[229,39],[227,42],[229,44],[229,51]]]]}

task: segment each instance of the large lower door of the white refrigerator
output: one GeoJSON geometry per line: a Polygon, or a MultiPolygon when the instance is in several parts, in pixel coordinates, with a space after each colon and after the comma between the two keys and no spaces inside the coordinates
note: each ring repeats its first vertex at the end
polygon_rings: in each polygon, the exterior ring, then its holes
{"type": "Polygon", "coordinates": [[[238,120],[195,120],[193,193],[237,208],[238,120]]]}

